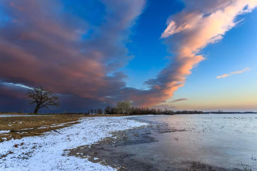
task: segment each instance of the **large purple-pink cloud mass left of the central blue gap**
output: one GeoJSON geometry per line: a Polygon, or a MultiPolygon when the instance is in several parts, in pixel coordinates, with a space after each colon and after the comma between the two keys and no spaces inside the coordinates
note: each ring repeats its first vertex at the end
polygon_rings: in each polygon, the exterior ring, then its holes
{"type": "MultiPolygon", "coordinates": [[[[78,101],[74,108],[112,103],[107,97],[126,87],[117,69],[133,58],[125,42],[145,1],[61,2],[0,2],[0,82],[47,86],[69,106],[78,101]],[[96,7],[102,11],[95,16],[96,7]]],[[[7,86],[0,86],[3,101],[7,86]]]]}

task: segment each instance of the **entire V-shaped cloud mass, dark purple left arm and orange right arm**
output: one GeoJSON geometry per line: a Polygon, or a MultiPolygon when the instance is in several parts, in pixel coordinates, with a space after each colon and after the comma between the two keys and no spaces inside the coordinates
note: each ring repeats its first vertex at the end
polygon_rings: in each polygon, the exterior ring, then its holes
{"type": "Polygon", "coordinates": [[[133,58],[126,42],[146,2],[65,2],[0,2],[1,110],[24,101],[24,87],[5,83],[47,86],[60,95],[65,106],[60,110],[104,107],[122,99],[142,107],[161,105],[204,60],[200,50],[221,40],[240,22],[238,15],[257,5],[254,0],[185,0],[161,34],[171,63],[141,90],[127,87],[127,76],[117,71],[133,58]]]}

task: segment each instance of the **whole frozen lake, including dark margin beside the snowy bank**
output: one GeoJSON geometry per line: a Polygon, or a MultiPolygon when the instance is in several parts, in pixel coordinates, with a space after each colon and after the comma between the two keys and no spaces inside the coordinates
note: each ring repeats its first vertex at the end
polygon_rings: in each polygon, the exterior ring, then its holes
{"type": "Polygon", "coordinates": [[[256,114],[129,119],[149,126],[113,132],[96,144],[70,149],[69,155],[90,156],[91,162],[104,162],[121,171],[242,171],[242,164],[247,164],[247,170],[257,170],[256,114]]]}

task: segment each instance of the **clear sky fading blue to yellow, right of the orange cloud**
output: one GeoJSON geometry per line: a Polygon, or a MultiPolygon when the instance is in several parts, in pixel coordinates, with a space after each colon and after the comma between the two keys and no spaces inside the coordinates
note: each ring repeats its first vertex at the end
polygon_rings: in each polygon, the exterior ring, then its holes
{"type": "Polygon", "coordinates": [[[192,104],[198,102],[199,107],[204,109],[216,103],[217,107],[213,107],[213,110],[219,106],[221,109],[228,108],[227,110],[233,111],[256,110],[254,106],[244,106],[249,100],[257,104],[257,10],[242,17],[244,21],[228,31],[222,41],[203,49],[202,53],[207,55],[207,59],[193,69],[186,85],[181,87],[172,99],[188,98],[194,101],[192,104]],[[245,67],[251,70],[222,79],[216,78],[218,75],[242,70],[245,67]],[[229,106],[221,104],[224,103],[221,99],[229,101],[225,104],[229,106]],[[201,106],[202,100],[208,101],[209,106],[201,106]]]}

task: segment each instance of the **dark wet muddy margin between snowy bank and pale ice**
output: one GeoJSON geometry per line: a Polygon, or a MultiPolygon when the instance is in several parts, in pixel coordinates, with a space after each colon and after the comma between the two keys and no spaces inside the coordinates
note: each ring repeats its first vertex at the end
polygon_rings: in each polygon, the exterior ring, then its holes
{"type": "Polygon", "coordinates": [[[142,121],[136,119],[136,117],[129,117],[127,119],[137,120],[138,122],[146,122],[148,125],[112,132],[111,137],[106,137],[95,144],[79,146],[74,149],[67,149],[67,151],[69,151],[68,155],[88,158],[88,160],[91,162],[101,163],[105,166],[111,166],[112,168],[121,171],[134,171],[138,169],[149,170],[153,166],[134,160],[133,155],[122,152],[122,148],[135,144],[152,143],[158,141],[151,136],[154,134],[153,132],[162,134],[168,132],[185,131],[171,129],[165,123],[142,121]]]}

